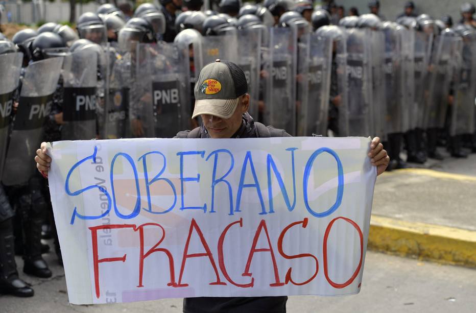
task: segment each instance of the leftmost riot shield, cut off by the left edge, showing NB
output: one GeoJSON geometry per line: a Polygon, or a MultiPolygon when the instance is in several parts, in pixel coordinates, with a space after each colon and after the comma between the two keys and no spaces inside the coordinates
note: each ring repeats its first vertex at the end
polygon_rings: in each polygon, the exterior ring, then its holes
{"type": "Polygon", "coordinates": [[[10,114],[13,109],[13,96],[20,81],[22,60],[21,52],[0,55],[0,177],[6,157],[10,114]]]}

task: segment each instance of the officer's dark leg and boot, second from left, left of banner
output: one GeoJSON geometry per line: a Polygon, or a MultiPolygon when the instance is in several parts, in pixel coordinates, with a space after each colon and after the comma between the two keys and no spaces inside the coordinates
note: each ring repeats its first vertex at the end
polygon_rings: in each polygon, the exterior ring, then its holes
{"type": "Polygon", "coordinates": [[[21,211],[23,233],[25,233],[25,267],[23,272],[37,277],[51,277],[52,272],[41,257],[41,225],[46,203],[41,194],[40,179],[34,176],[30,184],[18,199],[21,211]]]}

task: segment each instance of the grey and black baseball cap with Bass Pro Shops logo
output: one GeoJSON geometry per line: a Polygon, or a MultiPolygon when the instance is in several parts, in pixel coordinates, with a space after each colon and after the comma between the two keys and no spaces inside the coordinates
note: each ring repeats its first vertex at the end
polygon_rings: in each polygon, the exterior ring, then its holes
{"type": "Polygon", "coordinates": [[[195,84],[195,109],[192,118],[209,114],[230,118],[248,91],[245,73],[240,66],[217,59],[205,65],[195,84]]]}

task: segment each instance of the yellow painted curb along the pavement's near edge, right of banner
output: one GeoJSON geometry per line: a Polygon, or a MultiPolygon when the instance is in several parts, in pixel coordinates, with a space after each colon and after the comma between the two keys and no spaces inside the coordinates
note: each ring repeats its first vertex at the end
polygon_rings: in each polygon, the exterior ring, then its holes
{"type": "Polygon", "coordinates": [[[476,268],[476,231],[372,215],[368,248],[476,268]]]}

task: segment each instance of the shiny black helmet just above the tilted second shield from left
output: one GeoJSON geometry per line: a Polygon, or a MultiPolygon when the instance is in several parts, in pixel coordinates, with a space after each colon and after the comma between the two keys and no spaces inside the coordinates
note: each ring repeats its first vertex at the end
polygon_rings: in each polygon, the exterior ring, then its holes
{"type": "Polygon", "coordinates": [[[63,38],[53,32],[44,32],[35,37],[30,45],[33,61],[44,60],[52,56],[62,56],[68,52],[63,38]]]}

